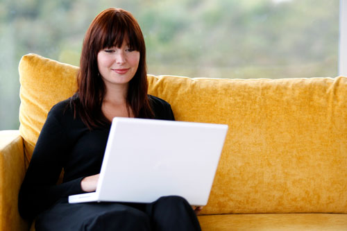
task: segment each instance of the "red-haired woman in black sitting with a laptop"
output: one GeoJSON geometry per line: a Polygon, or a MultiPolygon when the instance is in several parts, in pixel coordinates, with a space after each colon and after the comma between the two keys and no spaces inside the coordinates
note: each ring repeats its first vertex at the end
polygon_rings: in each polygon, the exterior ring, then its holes
{"type": "Polygon", "coordinates": [[[95,191],[113,117],[174,120],[169,103],[147,95],[147,88],[136,19],[104,10],[85,35],[78,90],[49,112],[19,191],[19,212],[36,217],[36,230],[200,230],[194,210],[178,196],[149,204],[67,203],[69,195],[95,191]]]}

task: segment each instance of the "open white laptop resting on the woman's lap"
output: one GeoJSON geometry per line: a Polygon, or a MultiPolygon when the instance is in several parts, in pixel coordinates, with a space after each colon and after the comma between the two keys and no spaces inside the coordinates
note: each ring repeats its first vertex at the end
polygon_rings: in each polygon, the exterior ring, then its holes
{"type": "Polygon", "coordinates": [[[96,191],[69,203],[151,203],[183,196],[206,205],[227,125],[115,117],[96,191]]]}

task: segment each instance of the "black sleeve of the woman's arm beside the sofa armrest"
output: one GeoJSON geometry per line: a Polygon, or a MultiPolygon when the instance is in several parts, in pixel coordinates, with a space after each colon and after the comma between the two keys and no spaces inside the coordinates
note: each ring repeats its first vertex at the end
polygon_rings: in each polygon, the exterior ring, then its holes
{"type": "MultiPolygon", "coordinates": [[[[58,112],[61,113],[61,110],[58,112]]],[[[37,140],[19,191],[19,214],[24,219],[33,219],[59,198],[83,193],[81,189],[83,178],[56,185],[70,146],[65,129],[61,126],[53,108],[37,140]]]]}

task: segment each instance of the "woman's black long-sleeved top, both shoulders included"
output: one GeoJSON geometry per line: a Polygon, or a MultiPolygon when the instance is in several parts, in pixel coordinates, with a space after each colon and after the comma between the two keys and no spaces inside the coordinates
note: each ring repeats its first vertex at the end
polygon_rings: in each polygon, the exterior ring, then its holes
{"type": "MultiPolygon", "coordinates": [[[[60,198],[81,194],[81,180],[100,173],[111,124],[90,130],[69,106],[70,99],[50,110],[37,139],[19,191],[19,213],[33,219],[60,198]],[[62,184],[56,185],[64,169],[62,184]]],[[[166,101],[149,95],[155,119],[174,120],[166,101]]]]}

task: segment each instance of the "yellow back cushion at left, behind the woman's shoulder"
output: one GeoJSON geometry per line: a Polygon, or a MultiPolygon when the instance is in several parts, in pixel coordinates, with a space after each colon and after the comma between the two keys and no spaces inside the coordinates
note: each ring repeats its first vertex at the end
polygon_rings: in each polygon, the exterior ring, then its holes
{"type": "Polygon", "coordinates": [[[28,54],[19,62],[19,131],[24,137],[26,166],[52,106],[69,98],[77,89],[78,67],[36,54],[28,54]]]}

